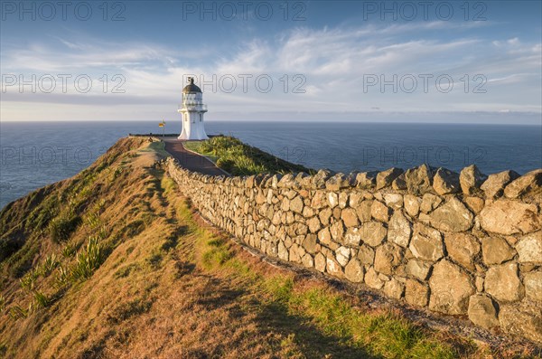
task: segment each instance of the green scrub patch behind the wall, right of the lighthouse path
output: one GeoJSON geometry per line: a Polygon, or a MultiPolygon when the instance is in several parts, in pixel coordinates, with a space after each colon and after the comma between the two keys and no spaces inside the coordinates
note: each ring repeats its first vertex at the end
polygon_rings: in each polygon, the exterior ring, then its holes
{"type": "Polygon", "coordinates": [[[184,146],[208,156],[231,175],[257,175],[261,173],[293,173],[312,170],[272,156],[257,147],[248,146],[235,137],[217,136],[205,141],[185,142],[184,146]]]}

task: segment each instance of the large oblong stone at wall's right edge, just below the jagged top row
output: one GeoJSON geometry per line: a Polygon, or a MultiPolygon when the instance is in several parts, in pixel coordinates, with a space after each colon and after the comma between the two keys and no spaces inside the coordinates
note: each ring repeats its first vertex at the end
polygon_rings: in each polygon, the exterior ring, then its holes
{"type": "Polygon", "coordinates": [[[535,204],[499,199],[481,210],[481,228],[499,234],[537,231],[540,221],[535,204]]]}

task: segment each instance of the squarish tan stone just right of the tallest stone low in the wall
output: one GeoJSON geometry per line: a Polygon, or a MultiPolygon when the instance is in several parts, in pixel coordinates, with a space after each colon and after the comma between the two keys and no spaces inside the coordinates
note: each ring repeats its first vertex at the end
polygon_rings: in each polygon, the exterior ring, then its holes
{"type": "Polygon", "coordinates": [[[522,284],[518,276],[518,264],[506,263],[488,269],[485,290],[499,301],[513,302],[521,299],[522,284]]]}

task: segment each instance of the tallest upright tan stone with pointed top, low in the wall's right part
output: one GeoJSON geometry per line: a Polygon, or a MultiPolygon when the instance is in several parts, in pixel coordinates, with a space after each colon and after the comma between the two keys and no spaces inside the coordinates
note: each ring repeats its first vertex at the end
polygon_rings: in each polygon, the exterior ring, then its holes
{"type": "Polygon", "coordinates": [[[466,314],[475,288],[471,278],[449,260],[435,264],[429,279],[429,309],[446,314],[466,314]]]}

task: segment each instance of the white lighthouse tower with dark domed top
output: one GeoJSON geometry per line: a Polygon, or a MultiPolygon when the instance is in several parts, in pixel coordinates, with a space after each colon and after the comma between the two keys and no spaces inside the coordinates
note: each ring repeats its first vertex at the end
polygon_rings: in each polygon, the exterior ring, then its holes
{"type": "Polygon", "coordinates": [[[194,79],[182,89],[182,104],[177,112],[182,116],[182,132],[179,139],[208,139],[203,127],[203,114],[207,112],[207,105],[203,104],[203,94],[199,87],[194,85],[194,79]]]}

